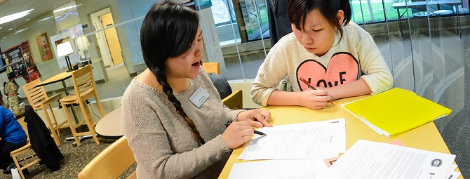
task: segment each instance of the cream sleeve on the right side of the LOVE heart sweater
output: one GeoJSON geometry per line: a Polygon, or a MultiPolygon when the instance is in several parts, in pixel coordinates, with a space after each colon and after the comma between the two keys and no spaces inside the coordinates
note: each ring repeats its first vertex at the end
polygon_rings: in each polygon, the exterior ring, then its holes
{"type": "Polygon", "coordinates": [[[356,50],[361,60],[361,69],[365,73],[361,79],[368,84],[372,95],[386,91],[394,85],[390,69],[370,34],[361,27],[357,29],[356,50]]]}

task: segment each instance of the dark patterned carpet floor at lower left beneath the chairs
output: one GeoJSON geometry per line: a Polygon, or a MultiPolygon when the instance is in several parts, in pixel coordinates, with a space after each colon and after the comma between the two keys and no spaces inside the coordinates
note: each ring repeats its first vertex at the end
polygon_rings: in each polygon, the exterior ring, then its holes
{"type": "MultiPolygon", "coordinates": [[[[86,127],[79,128],[79,130],[87,131],[86,127]]],[[[88,164],[95,156],[100,154],[102,150],[105,150],[106,147],[111,145],[112,141],[106,142],[101,140],[99,145],[95,144],[95,140],[86,139],[81,141],[81,146],[76,147],[72,145],[74,141],[66,141],[65,138],[72,136],[69,128],[62,128],[60,130],[60,143],[59,146],[60,152],[64,155],[64,159],[60,161],[60,170],[51,171],[45,165],[34,164],[28,168],[29,175],[26,178],[77,178],[78,173],[83,167],[88,164]]],[[[31,152],[23,154],[25,157],[31,155],[31,152]]],[[[27,161],[37,159],[33,157],[27,161]]],[[[24,164],[23,164],[24,165],[24,164]]],[[[128,171],[121,175],[121,178],[127,178],[127,176],[135,171],[136,164],[131,166],[128,171]]],[[[0,173],[1,179],[11,178],[11,175],[4,175],[0,173]]]]}

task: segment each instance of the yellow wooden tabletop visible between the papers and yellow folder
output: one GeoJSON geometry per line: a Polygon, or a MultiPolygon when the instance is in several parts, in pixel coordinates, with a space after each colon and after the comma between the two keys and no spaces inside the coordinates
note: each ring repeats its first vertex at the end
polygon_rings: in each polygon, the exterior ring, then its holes
{"type": "MultiPolygon", "coordinates": [[[[372,128],[364,124],[363,121],[354,117],[353,114],[350,114],[340,106],[346,102],[363,97],[365,96],[335,100],[335,105],[327,104],[327,107],[323,110],[311,110],[307,107],[299,106],[269,106],[262,107],[262,109],[267,109],[271,112],[271,121],[269,122],[273,124],[273,126],[344,118],[346,120],[347,149],[360,139],[375,142],[390,142],[391,140],[398,139],[403,142],[406,147],[450,154],[448,147],[445,145],[441,134],[437,130],[436,125],[434,125],[434,122],[424,124],[419,128],[412,129],[411,131],[397,135],[394,138],[387,138],[385,135],[380,135],[373,131],[372,128]]],[[[239,160],[238,157],[247,145],[248,142],[241,145],[241,147],[231,153],[231,156],[227,161],[227,164],[225,164],[222,173],[220,173],[219,178],[228,178],[231,167],[234,163],[245,162],[243,160],[239,160]]],[[[459,171],[459,168],[457,168],[457,171],[459,171]]],[[[463,178],[462,175],[460,175],[459,178],[463,178]]]]}

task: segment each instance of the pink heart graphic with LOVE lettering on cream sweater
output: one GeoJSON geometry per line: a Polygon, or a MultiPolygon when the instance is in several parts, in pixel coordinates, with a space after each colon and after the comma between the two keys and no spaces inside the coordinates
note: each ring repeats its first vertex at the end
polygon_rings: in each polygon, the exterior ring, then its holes
{"type": "Polygon", "coordinates": [[[300,90],[309,88],[300,83],[300,77],[307,79],[312,86],[330,88],[358,80],[359,63],[351,53],[335,53],[325,67],[316,60],[305,60],[297,67],[297,84],[300,90]]]}

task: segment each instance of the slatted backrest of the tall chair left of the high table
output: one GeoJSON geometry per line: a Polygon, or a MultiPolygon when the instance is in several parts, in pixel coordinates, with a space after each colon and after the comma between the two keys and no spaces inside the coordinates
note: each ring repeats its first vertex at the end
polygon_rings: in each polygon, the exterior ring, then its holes
{"type": "Polygon", "coordinates": [[[36,110],[39,107],[35,107],[36,103],[48,100],[46,91],[44,91],[43,86],[38,86],[41,83],[41,79],[36,79],[22,86],[23,91],[25,92],[26,98],[28,99],[29,105],[36,110]]]}

